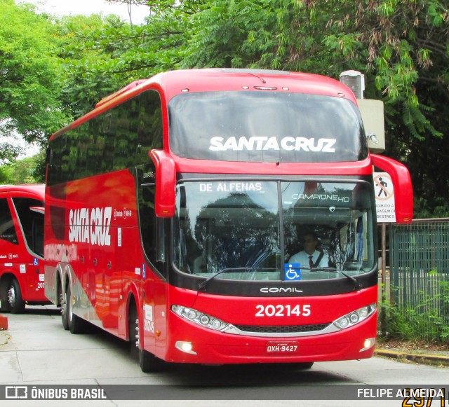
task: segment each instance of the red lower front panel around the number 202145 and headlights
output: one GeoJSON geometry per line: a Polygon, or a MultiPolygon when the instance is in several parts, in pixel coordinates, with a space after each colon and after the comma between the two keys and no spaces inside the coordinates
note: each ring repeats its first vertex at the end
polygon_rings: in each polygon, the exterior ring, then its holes
{"type": "MultiPolygon", "coordinates": [[[[155,346],[150,352],[162,359],[186,363],[276,363],[276,362],[307,362],[307,361],[330,361],[345,359],[362,359],[373,356],[374,347],[361,352],[363,341],[373,338],[373,332],[377,329],[377,313],[371,315],[366,321],[361,322],[353,328],[328,333],[324,335],[267,338],[253,336],[226,335],[201,328],[198,325],[187,322],[170,312],[173,303],[192,303],[192,308],[213,313],[215,317],[232,322],[237,325],[257,326],[293,326],[302,324],[321,324],[332,322],[338,317],[361,308],[366,304],[377,301],[377,287],[371,287],[363,291],[344,296],[320,296],[320,297],[283,297],[283,298],[250,298],[233,296],[213,296],[186,293],[180,289],[170,287],[168,291],[169,303],[167,306],[168,321],[166,326],[155,323],[154,329],[161,330],[158,342],[163,345],[155,346]],[[311,315],[309,317],[283,316],[255,317],[257,305],[274,305],[286,309],[297,304],[310,305],[311,315]],[[332,306],[330,307],[330,304],[332,306]],[[170,328],[167,329],[167,326],[170,328]],[[164,334],[165,333],[165,334],[164,334]],[[360,338],[359,341],[354,338],[360,338]],[[197,355],[185,354],[175,348],[175,342],[184,340],[192,342],[193,349],[198,351],[197,355]],[[295,343],[298,350],[292,354],[269,354],[267,343],[295,343]],[[161,353],[162,352],[162,353],[161,353]]],[[[279,312],[277,312],[279,314],[279,312]]]]}

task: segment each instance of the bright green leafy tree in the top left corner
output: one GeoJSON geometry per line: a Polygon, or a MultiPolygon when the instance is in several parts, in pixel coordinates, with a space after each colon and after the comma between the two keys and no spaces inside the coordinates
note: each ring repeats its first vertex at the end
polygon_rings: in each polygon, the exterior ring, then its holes
{"type": "Polygon", "coordinates": [[[0,3],[0,136],[18,132],[27,142],[46,137],[65,123],[58,94],[51,20],[13,0],[0,3]]]}

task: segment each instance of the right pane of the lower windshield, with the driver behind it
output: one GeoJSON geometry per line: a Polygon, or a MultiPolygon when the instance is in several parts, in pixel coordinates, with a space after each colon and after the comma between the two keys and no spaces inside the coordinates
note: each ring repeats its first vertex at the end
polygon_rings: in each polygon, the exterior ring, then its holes
{"type": "Polygon", "coordinates": [[[326,267],[348,275],[373,269],[368,185],[307,181],[283,182],[281,188],[286,261],[302,269],[296,280],[339,277],[326,267]]]}

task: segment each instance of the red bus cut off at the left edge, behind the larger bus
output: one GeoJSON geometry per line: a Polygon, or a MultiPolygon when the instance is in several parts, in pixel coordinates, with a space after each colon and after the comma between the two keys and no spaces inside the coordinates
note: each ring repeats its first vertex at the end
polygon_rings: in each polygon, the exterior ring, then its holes
{"type": "Polygon", "coordinates": [[[1,312],[45,305],[43,275],[43,184],[0,186],[1,312]]]}

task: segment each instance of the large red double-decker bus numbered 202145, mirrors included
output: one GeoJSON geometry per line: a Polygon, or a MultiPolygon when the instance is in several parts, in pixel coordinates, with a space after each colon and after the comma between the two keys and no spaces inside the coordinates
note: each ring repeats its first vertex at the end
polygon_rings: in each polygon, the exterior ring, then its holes
{"type": "Polygon", "coordinates": [[[356,99],[333,79],[136,81],[50,139],[46,296],[72,333],[90,322],[130,341],[143,371],[371,357],[373,166],[410,222],[408,170],[370,155],[356,99]]]}

